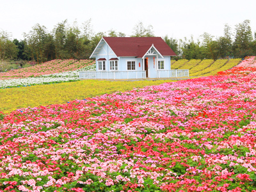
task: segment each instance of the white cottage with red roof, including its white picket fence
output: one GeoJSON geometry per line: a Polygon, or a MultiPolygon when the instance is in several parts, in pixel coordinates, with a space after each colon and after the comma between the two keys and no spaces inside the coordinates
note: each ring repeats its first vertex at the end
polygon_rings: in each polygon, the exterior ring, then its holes
{"type": "Polygon", "coordinates": [[[171,70],[175,52],[161,37],[102,37],[90,58],[96,72],[80,72],[81,79],[145,79],[188,76],[171,70]]]}

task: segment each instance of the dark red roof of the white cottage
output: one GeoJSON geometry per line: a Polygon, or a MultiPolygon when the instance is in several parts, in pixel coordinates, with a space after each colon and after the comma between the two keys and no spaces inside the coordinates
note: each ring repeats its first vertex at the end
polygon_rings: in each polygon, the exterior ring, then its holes
{"type": "Polygon", "coordinates": [[[116,56],[142,58],[154,44],[162,56],[176,56],[161,37],[103,37],[116,56]]]}

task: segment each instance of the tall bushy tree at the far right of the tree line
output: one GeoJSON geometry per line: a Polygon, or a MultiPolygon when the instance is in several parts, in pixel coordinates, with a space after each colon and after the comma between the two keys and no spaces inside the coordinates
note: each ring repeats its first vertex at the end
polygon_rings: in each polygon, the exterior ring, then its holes
{"type": "Polygon", "coordinates": [[[237,58],[244,58],[251,55],[250,44],[253,40],[250,20],[244,20],[236,25],[236,35],[234,41],[234,54],[237,58]]]}

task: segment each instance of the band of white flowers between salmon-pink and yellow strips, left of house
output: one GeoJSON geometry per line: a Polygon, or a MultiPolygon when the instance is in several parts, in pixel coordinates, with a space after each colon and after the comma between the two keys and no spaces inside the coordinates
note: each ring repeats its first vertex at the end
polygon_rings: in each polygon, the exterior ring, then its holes
{"type": "Polygon", "coordinates": [[[95,71],[96,65],[90,65],[78,70],[62,72],[58,74],[44,75],[40,77],[29,77],[24,79],[0,80],[0,88],[11,88],[17,86],[29,86],[34,84],[61,83],[67,81],[79,81],[79,71],[95,71]]]}

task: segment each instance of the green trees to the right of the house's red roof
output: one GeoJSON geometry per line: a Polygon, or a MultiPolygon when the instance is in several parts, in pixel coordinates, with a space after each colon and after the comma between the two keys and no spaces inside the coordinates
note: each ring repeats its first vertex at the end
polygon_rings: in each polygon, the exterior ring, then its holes
{"type": "MultiPolygon", "coordinates": [[[[209,33],[200,35],[197,40],[184,38],[176,40],[164,36],[165,42],[178,55],[177,58],[213,59],[244,58],[256,55],[256,32],[252,33],[250,20],[244,20],[232,29],[225,24],[223,36],[214,39],[209,33]]],[[[176,59],[177,59],[176,58],[176,59]]]]}

